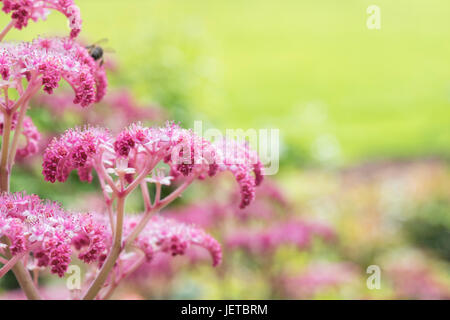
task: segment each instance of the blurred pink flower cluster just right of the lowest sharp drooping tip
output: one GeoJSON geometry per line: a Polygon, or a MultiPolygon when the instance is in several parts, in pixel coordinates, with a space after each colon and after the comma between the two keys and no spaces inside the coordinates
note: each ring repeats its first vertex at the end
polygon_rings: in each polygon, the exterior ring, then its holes
{"type": "Polygon", "coordinates": [[[310,246],[314,237],[325,241],[335,238],[333,230],[318,223],[287,221],[259,230],[236,231],[227,236],[230,248],[244,249],[252,254],[272,252],[283,245],[294,245],[299,249],[310,246]]]}

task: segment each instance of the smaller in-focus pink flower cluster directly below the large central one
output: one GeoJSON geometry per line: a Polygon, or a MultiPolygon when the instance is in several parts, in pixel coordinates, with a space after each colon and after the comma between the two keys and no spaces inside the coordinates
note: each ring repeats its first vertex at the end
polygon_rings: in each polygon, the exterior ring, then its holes
{"type": "MultiPolygon", "coordinates": [[[[124,226],[124,234],[128,235],[140,219],[139,216],[128,217],[124,226]]],[[[152,260],[160,252],[172,256],[183,255],[191,245],[208,250],[213,260],[213,266],[217,266],[222,261],[220,244],[209,234],[202,229],[158,215],[148,222],[133,244],[145,253],[147,261],[152,260]]]]}

